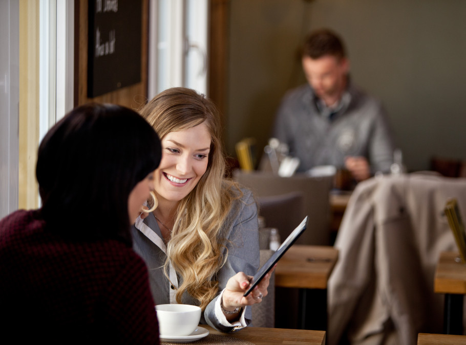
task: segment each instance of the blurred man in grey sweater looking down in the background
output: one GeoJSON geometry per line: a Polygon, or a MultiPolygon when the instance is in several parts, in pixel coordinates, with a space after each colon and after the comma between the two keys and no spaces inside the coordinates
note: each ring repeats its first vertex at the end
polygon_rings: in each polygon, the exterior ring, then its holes
{"type": "Polygon", "coordinates": [[[394,147],[384,110],[351,82],[340,37],[327,29],[311,33],[302,65],[308,83],[285,95],[273,130],[300,159],[298,171],[333,165],[356,181],[389,172],[394,147]]]}

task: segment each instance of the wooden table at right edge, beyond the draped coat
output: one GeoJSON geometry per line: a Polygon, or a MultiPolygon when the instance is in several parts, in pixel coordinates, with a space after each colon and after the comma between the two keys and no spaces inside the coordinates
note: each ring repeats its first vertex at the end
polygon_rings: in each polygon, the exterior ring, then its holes
{"type": "Polygon", "coordinates": [[[463,295],[466,294],[466,264],[456,251],[440,253],[435,270],[435,293],[444,293],[443,330],[446,334],[462,334],[463,295]]]}

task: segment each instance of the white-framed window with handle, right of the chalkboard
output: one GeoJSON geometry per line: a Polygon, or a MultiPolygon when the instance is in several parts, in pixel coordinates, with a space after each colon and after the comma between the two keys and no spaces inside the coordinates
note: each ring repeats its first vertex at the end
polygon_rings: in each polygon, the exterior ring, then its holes
{"type": "Polygon", "coordinates": [[[208,0],[150,3],[149,99],[185,86],[207,93],[208,0]]]}

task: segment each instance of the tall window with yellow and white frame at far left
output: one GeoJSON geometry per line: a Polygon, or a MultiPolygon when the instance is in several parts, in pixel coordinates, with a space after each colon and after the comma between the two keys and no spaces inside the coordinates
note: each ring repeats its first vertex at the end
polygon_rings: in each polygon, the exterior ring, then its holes
{"type": "Polygon", "coordinates": [[[40,204],[35,165],[73,107],[73,0],[0,2],[0,218],[40,204]]]}

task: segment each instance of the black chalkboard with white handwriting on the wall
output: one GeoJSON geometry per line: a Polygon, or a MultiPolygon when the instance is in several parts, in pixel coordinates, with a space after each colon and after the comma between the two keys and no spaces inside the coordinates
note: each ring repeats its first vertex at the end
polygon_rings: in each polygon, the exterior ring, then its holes
{"type": "Polygon", "coordinates": [[[142,0],[90,0],[88,97],[141,81],[142,0]]]}

